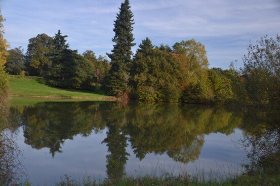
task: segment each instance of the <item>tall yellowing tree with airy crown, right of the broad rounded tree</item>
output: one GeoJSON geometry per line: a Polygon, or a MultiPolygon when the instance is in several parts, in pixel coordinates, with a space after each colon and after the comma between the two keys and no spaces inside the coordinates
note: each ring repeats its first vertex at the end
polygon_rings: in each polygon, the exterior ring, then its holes
{"type": "Polygon", "coordinates": [[[194,39],[181,41],[173,45],[173,51],[179,58],[182,68],[181,100],[184,102],[211,103],[213,91],[208,78],[208,59],[205,46],[194,39]]]}

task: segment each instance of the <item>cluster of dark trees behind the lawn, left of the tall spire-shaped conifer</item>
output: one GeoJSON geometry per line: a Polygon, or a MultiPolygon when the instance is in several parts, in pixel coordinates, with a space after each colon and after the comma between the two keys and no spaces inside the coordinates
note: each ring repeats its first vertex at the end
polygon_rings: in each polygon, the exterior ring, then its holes
{"type": "Polygon", "coordinates": [[[109,70],[109,61],[92,50],[82,55],[69,49],[67,35],[59,30],[54,37],[38,34],[29,39],[24,54],[21,47],[8,50],[6,71],[12,75],[44,77],[45,83],[69,89],[90,89],[101,82],[109,70]]]}

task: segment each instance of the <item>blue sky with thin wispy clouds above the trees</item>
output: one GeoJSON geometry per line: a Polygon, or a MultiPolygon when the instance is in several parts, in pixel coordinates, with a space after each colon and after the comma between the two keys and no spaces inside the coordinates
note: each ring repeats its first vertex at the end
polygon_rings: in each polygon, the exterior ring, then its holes
{"type": "MultiPolygon", "coordinates": [[[[12,48],[27,48],[37,34],[54,36],[58,29],[79,53],[91,49],[105,55],[112,49],[121,0],[0,0],[5,38],[12,48]]],[[[280,30],[280,0],[131,0],[137,46],[149,37],[154,45],[195,39],[206,46],[210,67],[242,64],[250,42],[280,30]]],[[[280,34],[280,33],[279,33],[280,34]]],[[[136,46],[133,50],[136,50],[136,46]]]]}

